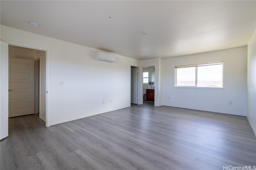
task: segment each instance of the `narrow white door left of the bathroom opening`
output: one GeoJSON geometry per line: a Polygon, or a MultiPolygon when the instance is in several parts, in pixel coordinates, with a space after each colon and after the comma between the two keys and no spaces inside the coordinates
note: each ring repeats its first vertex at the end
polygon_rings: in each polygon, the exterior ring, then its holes
{"type": "Polygon", "coordinates": [[[131,103],[138,104],[138,67],[131,68],[131,103]]]}

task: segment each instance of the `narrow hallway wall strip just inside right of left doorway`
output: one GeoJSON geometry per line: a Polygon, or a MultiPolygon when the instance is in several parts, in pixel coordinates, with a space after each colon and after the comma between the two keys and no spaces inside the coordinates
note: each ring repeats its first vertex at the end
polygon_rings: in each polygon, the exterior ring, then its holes
{"type": "Polygon", "coordinates": [[[40,55],[39,74],[39,117],[46,121],[46,51],[40,55]]]}

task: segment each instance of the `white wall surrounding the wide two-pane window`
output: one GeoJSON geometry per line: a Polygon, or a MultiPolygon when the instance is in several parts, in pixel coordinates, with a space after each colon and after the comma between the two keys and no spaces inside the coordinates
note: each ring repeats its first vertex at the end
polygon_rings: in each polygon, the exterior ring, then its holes
{"type": "Polygon", "coordinates": [[[247,48],[162,59],[163,105],[246,115],[247,48]],[[175,88],[174,66],[223,61],[224,88],[175,88]],[[168,99],[169,98],[169,99],[168,99]],[[232,102],[232,105],[229,104],[232,102]]]}

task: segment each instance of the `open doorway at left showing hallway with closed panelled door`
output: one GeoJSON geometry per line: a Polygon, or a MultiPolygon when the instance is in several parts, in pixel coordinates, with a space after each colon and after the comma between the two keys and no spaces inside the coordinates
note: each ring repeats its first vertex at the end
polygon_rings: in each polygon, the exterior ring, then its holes
{"type": "Polygon", "coordinates": [[[8,117],[38,114],[46,121],[46,51],[8,46],[8,117]]]}

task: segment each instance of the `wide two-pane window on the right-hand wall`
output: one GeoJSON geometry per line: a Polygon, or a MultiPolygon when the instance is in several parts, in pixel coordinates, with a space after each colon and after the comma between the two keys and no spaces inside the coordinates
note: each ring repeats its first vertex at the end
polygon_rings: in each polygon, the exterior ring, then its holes
{"type": "Polygon", "coordinates": [[[223,87],[223,62],[175,66],[176,86],[223,87]]]}

